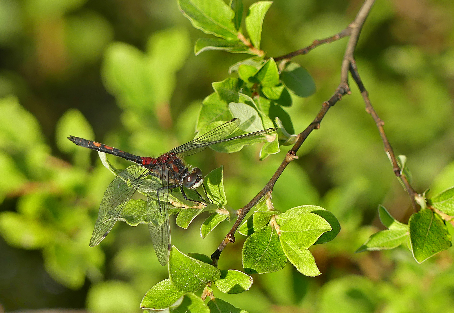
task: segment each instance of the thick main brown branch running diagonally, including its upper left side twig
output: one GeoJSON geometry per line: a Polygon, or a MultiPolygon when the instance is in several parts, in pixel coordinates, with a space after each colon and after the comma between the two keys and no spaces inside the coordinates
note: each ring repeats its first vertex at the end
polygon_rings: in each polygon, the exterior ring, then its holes
{"type": "MultiPolygon", "coordinates": [[[[222,240],[221,244],[219,244],[219,247],[217,247],[216,251],[212,254],[211,258],[217,263],[217,260],[219,260],[219,257],[222,253],[222,250],[227,246],[228,243],[233,243],[235,242],[235,232],[237,231],[238,227],[242,223],[243,219],[246,217],[246,214],[249,212],[249,210],[257,204],[257,202],[265,196],[266,193],[271,192],[274,184],[276,184],[277,179],[281,176],[282,172],[286,168],[286,166],[294,159],[297,159],[296,152],[298,149],[300,149],[301,144],[306,140],[307,136],[311,134],[312,130],[314,129],[319,129],[320,128],[320,123],[321,120],[325,117],[326,112],[337,103],[340,99],[345,94],[350,94],[350,88],[348,86],[348,70],[350,66],[350,62],[354,60],[353,58],[353,53],[355,51],[356,44],[358,42],[358,38],[362,29],[362,26],[364,25],[365,19],[367,15],[369,15],[370,9],[372,8],[372,5],[374,4],[375,0],[365,0],[363,5],[361,6],[358,14],[356,15],[355,20],[350,23],[350,25],[343,30],[341,33],[338,33],[330,38],[337,38],[339,34],[344,34],[344,33],[349,33],[350,34],[350,40],[347,43],[347,46],[345,48],[345,54],[344,58],[342,60],[342,71],[341,71],[341,83],[337,86],[335,93],[331,96],[331,98],[328,101],[325,101],[319,113],[316,115],[316,118],[312,121],[309,126],[305,130],[303,130],[300,134],[298,134],[298,139],[296,140],[296,143],[293,145],[293,147],[286,153],[285,159],[282,161],[281,165],[277,168],[276,172],[273,174],[271,179],[268,181],[268,183],[263,187],[263,189],[251,200],[249,201],[248,204],[246,204],[242,209],[239,209],[239,214],[238,214],[238,219],[235,221],[235,223],[232,226],[232,229],[228,232],[224,240],[222,240]],[[344,67],[346,65],[346,70],[344,70],[344,67]]],[[[348,35],[348,34],[347,34],[348,35]]],[[[345,35],[346,36],[346,35],[345,35]]],[[[334,40],[329,41],[330,38],[327,38],[325,42],[322,43],[328,43],[334,40]]],[[[314,42],[315,43],[315,42],[314,42]]],[[[313,44],[314,45],[314,44],[313,44]]],[[[318,44],[320,45],[320,44],[318,44]]],[[[309,46],[308,51],[311,49],[315,48],[318,45],[314,45],[314,47],[310,48],[309,46]]],[[[304,50],[304,49],[302,49],[304,50]]],[[[302,51],[301,50],[301,51],[302,51]]],[[[306,52],[307,53],[307,52],[306,52]]],[[[275,60],[284,60],[284,59],[289,59],[293,56],[300,55],[301,53],[296,53],[295,55],[284,55],[281,57],[276,58],[275,60]]]]}

